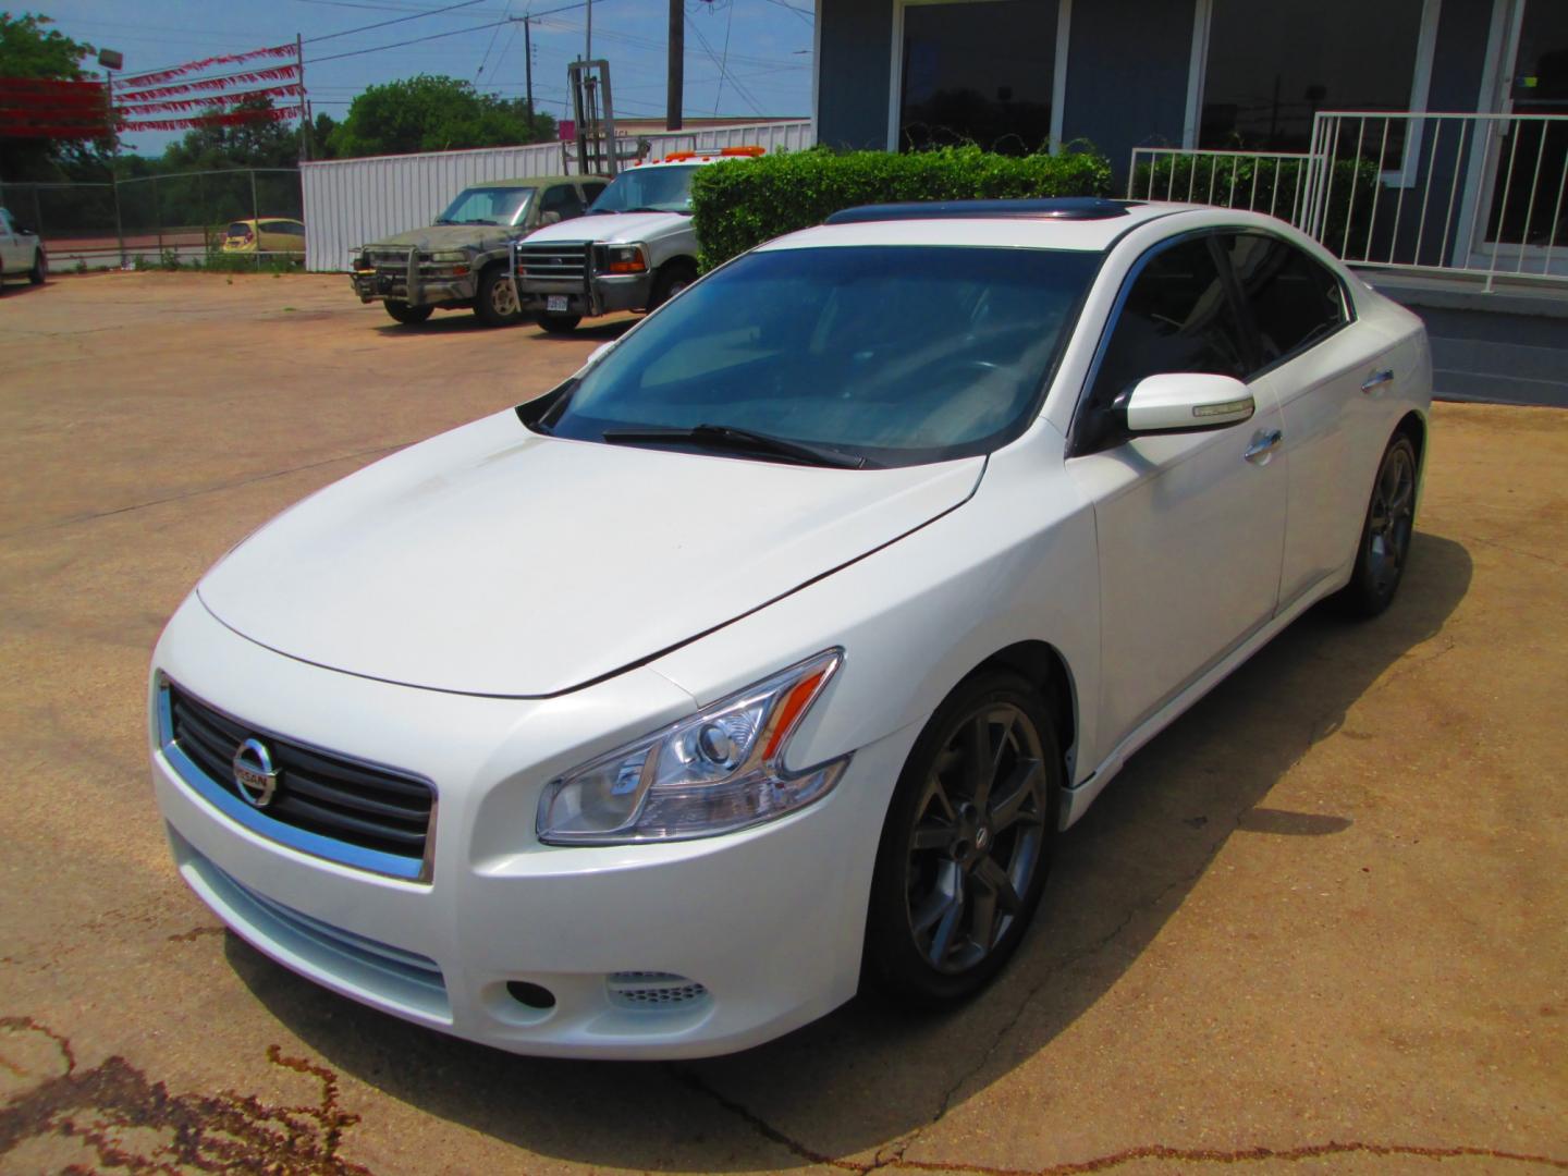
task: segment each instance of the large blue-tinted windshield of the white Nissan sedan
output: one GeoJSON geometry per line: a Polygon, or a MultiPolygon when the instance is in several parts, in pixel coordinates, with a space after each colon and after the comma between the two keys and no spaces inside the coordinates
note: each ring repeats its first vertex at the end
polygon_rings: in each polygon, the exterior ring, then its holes
{"type": "Polygon", "coordinates": [[[748,254],[626,336],[538,426],[699,450],[724,426],[867,466],[985,453],[1033,417],[1098,265],[955,246],[748,254]]]}

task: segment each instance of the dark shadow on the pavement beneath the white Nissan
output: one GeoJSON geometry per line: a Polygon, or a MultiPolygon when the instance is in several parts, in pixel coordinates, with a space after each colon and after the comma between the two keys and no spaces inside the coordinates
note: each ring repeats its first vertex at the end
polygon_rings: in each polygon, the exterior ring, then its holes
{"type": "MultiPolygon", "coordinates": [[[[734,1135],[704,1135],[699,1124],[710,1116],[693,1113],[693,1096],[710,1099],[712,1115],[789,1148],[798,1165],[877,1148],[999,1080],[1094,1005],[1234,829],[1331,837],[1348,828],[1345,817],[1259,803],[1341,728],[1378,676],[1443,629],[1469,582],[1465,547],[1417,535],[1400,597],[1381,618],[1355,624],[1317,608],[1237,670],[1135,756],[1063,837],[1018,958],[952,1014],[908,1016],[858,999],[726,1058],[560,1062],[383,1016],[273,964],[234,935],[227,958],[329,1065],[536,1154],[644,1170],[735,1167],[734,1135]],[[685,1140],[679,1156],[673,1140],[685,1140]]],[[[782,1151],[768,1154],[782,1162],[782,1151]]]]}

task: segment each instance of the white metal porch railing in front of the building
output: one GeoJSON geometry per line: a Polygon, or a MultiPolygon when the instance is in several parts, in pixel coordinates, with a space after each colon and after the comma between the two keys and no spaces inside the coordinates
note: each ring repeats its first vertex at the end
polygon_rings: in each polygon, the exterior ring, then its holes
{"type": "Polygon", "coordinates": [[[1127,194],[1267,212],[1352,265],[1568,281],[1568,114],[1320,111],[1305,154],[1135,147],[1127,194]]]}

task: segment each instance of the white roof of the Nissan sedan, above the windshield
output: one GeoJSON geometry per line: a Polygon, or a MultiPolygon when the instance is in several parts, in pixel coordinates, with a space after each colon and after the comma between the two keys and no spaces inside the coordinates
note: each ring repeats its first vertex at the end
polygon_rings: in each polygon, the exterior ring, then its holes
{"type": "Polygon", "coordinates": [[[1110,201],[950,201],[917,205],[867,205],[845,210],[826,224],[778,237],[759,249],[848,245],[967,245],[1102,252],[1129,229],[1181,213],[1214,212],[1200,204],[1110,201]]]}

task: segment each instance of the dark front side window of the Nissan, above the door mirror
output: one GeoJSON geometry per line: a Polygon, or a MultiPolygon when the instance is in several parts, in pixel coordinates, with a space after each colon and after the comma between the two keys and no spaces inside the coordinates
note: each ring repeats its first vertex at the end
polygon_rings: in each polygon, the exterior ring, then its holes
{"type": "Polygon", "coordinates": [[[1088,406],[1112,401],[1145,376],[1210,372],[1245,379],[1242,326],[1207,237],[1154,254],[1132,281],[1112,326],[1088,406]]]}

